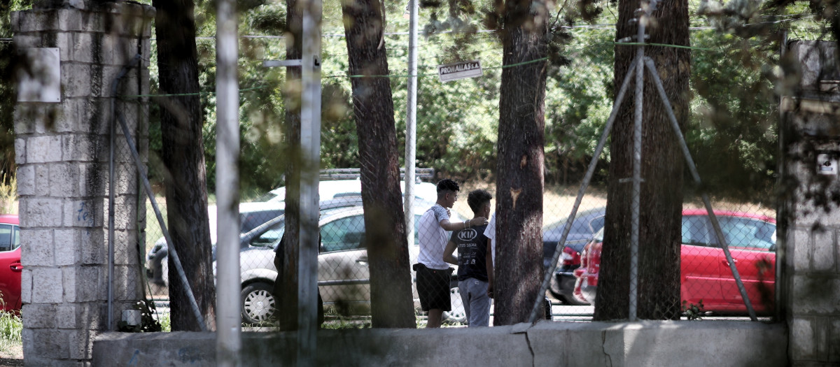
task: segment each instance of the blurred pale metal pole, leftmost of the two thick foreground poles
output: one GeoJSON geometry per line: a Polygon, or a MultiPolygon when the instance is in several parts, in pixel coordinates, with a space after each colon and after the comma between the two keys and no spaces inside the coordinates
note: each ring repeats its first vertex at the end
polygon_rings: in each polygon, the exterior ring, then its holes
{"type": "Polygon", "coordinates": [[[216,360],[241,364],[239,275],[239,57],[235,0],[220,0],[216,13],[216,360]]]}

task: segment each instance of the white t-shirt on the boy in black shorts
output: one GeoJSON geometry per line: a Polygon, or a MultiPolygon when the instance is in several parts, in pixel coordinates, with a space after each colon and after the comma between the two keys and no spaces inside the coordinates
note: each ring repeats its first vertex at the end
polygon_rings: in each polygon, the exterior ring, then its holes
{"type": "Polygon", "coordinates": [[[444,250],[449,236],[446,235],[444,227],[440,226],[441,220],[449,220],[449,214],[440,204],[434,204],[420,216],[420,220],[417,220],[417,240],[420,242],[417,262],[429,269],[449,269],[449,264],[444,261],[444,250]]]}

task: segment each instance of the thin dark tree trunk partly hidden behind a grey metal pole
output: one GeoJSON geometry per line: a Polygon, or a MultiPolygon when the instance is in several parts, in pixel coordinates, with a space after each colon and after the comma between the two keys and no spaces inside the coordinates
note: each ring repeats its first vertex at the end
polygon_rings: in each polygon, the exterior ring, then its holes
{"type": "MultiPolygon", "coordinates": [[[[286,0],[286,24],[294,38],[286,43],[286,59],[301,59],[303,56],[302,8],[297,0],[286,0]]],[[[301,84],[301,67],[286,68],[286,85],[301,84]]],[[[287,88],[300,90],[300,88],[287,88]]],[[[282,260],[277,269],[274,284],[276,318],[281,330],[297,330],[297,265],[300,257],[298,235],[300,234],[301,195],[301,94],[286,94],[286,241],[282,248],[282,260]]]]}

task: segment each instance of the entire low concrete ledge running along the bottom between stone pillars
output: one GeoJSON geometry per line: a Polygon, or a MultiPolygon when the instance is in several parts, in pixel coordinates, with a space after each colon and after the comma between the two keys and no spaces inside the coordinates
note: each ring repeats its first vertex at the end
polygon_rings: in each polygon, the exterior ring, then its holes
{"type": "MultiPolygon", "coordinates": [[[[784,324],[538,323],[493,328],[320,330],[318,365],[785,366],[784,324]],[[525,330],[524,332],[522,330],[525,330]]],[[[294,333],[243,333],[242,365],[288,365],[294,333]]],[[[94,366],[213,366],[215,333],[103,333],[94,366]]]]}

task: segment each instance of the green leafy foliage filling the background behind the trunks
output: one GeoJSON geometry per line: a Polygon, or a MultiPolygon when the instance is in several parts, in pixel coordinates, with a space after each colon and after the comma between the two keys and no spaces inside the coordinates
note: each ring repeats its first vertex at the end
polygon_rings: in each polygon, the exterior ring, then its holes
{"type": "MultiPolygon", "coordinates": [[[[11,36],[8,11],[29,7],[15,0],[0,8],[0,37],[11,36]]],[[[144,1],[143,3],[150,3],[144,1]]],[[[817,8],[804,3],[780,3],[774,8],[692,1],[705,14],[693,25],[714,29],[692,31],[690,121],[685,137],[695,157],[706,189],[731,198],[768,198],[774,183],[777,133],[775,130],[780,60],[778,39],[771,37],[781,26],[800,37],[830,34],[817,8]],[[717,7],[717,8],[716,8],[717,7]],[[729,8],[725,8],[729,7],[729,8]],[[735,7],[735,8],[732,8],[735,7]],[[774,19],[795,19],[767,27],[750,27],[771,12],[774,19]],[[785,18],[787,17],[787,18],[785,18]],[[816,30],[814,30],[816,29],[816,30]],[[768,42],[769,41],[769,42],[768,42]]],[[[199,81],[204,113],[204,145],[208,189],[215,189],[215,5],[199,1],[197,32],[209,39],[197,40],[199,81]]],[[[501,41],[496,29],[502,20],[494,2],[423,1],[421,26],[432,32],[419,45],[417,93],[417,165],[432,167],[456,178],[491,179],[496,169],[496,131],[501,81],[501,41]],[[444,31],[457,31],[444,33],[444,31]],[[441,83],[436,66],[464,59],[480,59],[485,68],[480,78],[441,83]]],[[[240,187],[245,196],[256,196],[283,184],[286,169],[285,112],[300,101],[287,95],[300,85],[286,83],[285,68],[265,68],[264,59],[285,59],[285,2],[249,0],[238,4],[239,33],[271,38],[240,38],[240,187]]],[[[548,183],[573,183],[582,177],[612,109],[612,54],[615,30],[577,27],[575,19],[614,23],[614,3],[582,2],[555,9],[552,24],[575,25],[554,28],[550,49],[549,80],[545,100],[545,167],[548,183]]],[[[387,32],[404,32],[405,3],[386,2],[387,32]]],[[[323,168],[359,167],[350,91],[344,24],[340,3],[324,3],[323,13],[323,168]]],[[[406,34],[386,36],[391,70],[391,88],[396,111],[397,144],[405,144],[407,104],[406,34]]],[[[0,170],[13,167],[12,44],[0,42],[0,170]]],[[[150,63],[151,92],[157,89],[155,43],[150,63]]],[[[150,104],[150,173],[162,181],[160,167],[160,121],[157,104],[150,104]]],[[[601,155],[596,180],[606,174],[609,147],[601,155]]],[[[403,157],[400,157],[401,162],[403,157]]]]}

